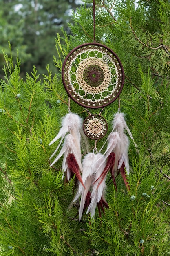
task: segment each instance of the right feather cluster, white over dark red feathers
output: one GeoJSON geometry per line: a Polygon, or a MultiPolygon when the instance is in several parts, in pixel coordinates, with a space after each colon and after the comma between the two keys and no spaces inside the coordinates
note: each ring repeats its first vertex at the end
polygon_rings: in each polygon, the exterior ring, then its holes
{"type": "Polygon", "coordinates": [[[104,152],[106,166],[99,177],[100,182],[102,182],[102,180],[106,178],[107,173],[110,171],[116,191],[117,186],[115,178],[119,173],[121,173],[126,188],[129,189],[128,182],[126,180],[126,173],[127,175],[129,175],[129,139],[128,136],[125,134],[125,130],[127,130],[130,138],[133,140],[132,133],[130,132],[124,119],[124,114],[116,113],[113,119],[113,130],[108,136],[108,146],[106,148],[106,151],[104,152]]]}

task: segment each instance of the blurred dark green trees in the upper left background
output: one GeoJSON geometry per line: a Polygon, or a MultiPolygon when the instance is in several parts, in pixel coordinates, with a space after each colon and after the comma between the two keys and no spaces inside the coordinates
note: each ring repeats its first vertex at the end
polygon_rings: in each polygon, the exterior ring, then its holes
{"type": "MultiPolygon", "coordinates": [[[[12,45],[13,59],[17,51],[22,59],[21,75],[32,71],[33,65],[39,74],[46,74],[46,65],[57,72],[53,63],[56,34],[61,27],[69,35],[67,25],[71,14],[82,3],[81,0],[0,0],[0,49],[9,54],[8,41],[12,45]]],[[[4,56],[0,52],[0,77],[4,56]]]]}

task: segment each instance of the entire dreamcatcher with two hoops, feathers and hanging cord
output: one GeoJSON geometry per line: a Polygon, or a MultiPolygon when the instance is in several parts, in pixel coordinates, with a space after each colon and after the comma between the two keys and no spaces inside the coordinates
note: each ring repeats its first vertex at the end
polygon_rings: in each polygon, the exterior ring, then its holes
{"type": "Polygon", "coordinates": [[[66,173],[66,179],[70,180],[75,175],[79,186],[69,208],[81,197],[79,220],[85,210],[93,217],[96,207],[100,216],[101,209],[104,213],[104,207],[108,208],[105,199],[105,181],[109,171],[116,190],[115,178],[119,173],[129,189],[126,180],[126,174],[129,174],[129,139],[125,130],[133,139],[119,106],[118,112],[113,117],[112,132],[104,143],[107,143],[107,148],[103,154],[101,152],[104,146],[99,152],[97,151],[97,140],[106,135],[108,128],[106,119],[102,117],[102,110],[119,98],[124,85],[124,70],[118,56],[110,48],[95,42],[95,0],[93,0],[93,22],[94,42],[84,43],[73,49],[65,58],[62,67],[62,81],[69,100],[71,98],[75,103],[83,106],[89,115],[83,121],[79,115],[70,111],[69,106],[69,113],[63,118],[59,133],[49,144],[60,139],[51,159],[64,140],[51,166],[63,155],[63,177],[66,173]],[[99,108],[102,109],[99,114],[93,115],[89,111],[99,108]],[[81,138],[85,141],[88,152],[84,159],[81,154],[81,138]],[[95,141],[93,152],[88,151],[87,138],[95,141]]]}

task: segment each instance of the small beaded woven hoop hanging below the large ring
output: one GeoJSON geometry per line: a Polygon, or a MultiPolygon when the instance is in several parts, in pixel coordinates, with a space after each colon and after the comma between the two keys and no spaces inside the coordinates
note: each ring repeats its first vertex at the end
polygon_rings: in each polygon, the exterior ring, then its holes
{"type": "Polygon", "coordinates": [[[101,139],[107,132],[106,120],[101,115],[89,115],[83,123],[83,130],[90,139],[101,139]]]}

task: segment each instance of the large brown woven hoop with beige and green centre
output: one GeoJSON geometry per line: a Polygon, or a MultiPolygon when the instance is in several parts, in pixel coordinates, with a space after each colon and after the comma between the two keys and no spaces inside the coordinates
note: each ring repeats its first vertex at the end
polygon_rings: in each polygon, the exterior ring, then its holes
{"type": "Polygon", "coordinates": [[[111,49],[86,43],[73,49],[64,60],[62,81],[76,103],[85,108],[102,108],[119,96],[124,70],[111,49]]]}

